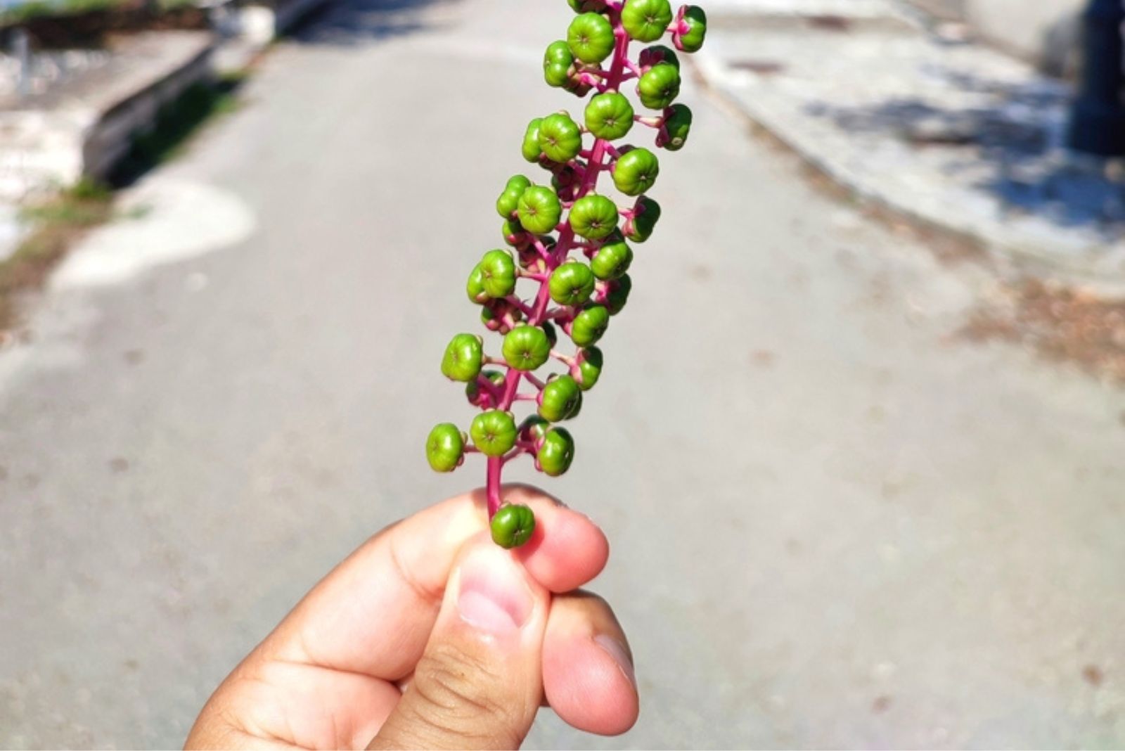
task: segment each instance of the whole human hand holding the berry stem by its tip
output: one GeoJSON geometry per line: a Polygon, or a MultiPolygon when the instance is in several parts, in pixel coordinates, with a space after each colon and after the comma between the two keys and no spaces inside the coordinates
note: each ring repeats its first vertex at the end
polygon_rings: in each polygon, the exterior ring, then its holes
{"type": "Polygon", "coordinates": [[[592,733],[637,720],[610,606],[577,590],[609,544],[541,491],[532,539],[489,539],[484,492],[394,524],[325,577],[202,708],[186,748],[514,749],[541,704],[592,733]]]}

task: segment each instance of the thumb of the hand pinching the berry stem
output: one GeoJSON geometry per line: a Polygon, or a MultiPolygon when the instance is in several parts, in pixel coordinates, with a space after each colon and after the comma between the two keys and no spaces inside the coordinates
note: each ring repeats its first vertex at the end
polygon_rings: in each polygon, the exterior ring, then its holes
{"type": "Polygon", "coordinates": [[[542,699],[549,595],[486,535],[466,546],[414,677],[369,749],[516,749],[542,699]]]}

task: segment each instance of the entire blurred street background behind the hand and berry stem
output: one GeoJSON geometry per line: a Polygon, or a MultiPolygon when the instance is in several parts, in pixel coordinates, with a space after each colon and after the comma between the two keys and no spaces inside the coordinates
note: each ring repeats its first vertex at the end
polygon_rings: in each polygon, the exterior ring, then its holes
{"type": "MultiPolygon", "coordinates": [[[[528,747],[1122,745],[1125,10],[705,8],[575,464],[511,472],[606,530],[641,717],[528,747]]],[[[3,13],[0,745],[179,747],[331,565],[483,483],[422,445],[472,415],[438,363],[525,124],[580,111],[573,13],[3,13]]]]}

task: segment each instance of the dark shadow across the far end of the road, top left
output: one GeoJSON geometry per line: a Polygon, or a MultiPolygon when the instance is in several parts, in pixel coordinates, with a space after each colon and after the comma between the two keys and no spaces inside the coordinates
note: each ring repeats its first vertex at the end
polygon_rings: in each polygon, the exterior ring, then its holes
{"type": "Polygon", "coordinates": [[[433,9],[459,0],[335,0],[309,16],[291,39],[299,44],[350,46],[415,34],[436,24],[433,9]]]}

